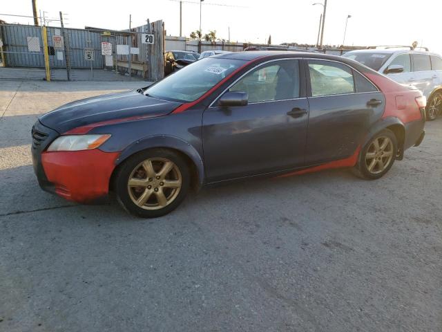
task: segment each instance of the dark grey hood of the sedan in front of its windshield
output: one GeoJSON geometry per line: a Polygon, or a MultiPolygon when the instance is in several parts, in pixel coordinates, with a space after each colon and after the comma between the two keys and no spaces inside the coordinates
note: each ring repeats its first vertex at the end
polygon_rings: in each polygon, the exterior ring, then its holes
{"type": "Polygon", "coordinates": [[[178,102],[146,97],[137,91],[126,91],[70,102],[46,113],[39,120],[44,126],[65,133],[97,122],[164,116],[179,106],[178,102]]]}

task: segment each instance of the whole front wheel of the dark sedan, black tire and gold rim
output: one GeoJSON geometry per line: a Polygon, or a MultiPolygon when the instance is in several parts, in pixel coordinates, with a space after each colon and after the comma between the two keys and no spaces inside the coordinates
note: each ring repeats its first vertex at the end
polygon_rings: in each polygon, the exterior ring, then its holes
{"type": "Polygon", "coordinates": [[[178,154],[151,149],[135,154],[118,169],[115,192],[128,212],[155,218],[175,210],[189,184],[189,167],[178,154]]]}

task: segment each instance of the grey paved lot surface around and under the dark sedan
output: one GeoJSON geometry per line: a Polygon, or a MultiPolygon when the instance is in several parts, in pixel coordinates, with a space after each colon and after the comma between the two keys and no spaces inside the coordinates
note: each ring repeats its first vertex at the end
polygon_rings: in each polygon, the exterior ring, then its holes
{"type": "Polygon", "coordinates": [[[161,219],[42,192],[40,113],[142,82],[0,82],[0,331],[442,331],[442,118],[379,181],[204,189],[161,219]]]}

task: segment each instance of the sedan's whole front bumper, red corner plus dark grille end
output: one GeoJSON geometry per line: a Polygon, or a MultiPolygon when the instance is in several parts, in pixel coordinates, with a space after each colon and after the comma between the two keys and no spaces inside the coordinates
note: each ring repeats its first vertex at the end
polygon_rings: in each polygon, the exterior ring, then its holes
{"type": "MultiPolygon", "coordinates": [[[[32,141],[32,164],[40,187],[69,201],[93,203],[107,196],[118,152],[99,149],[84,151],[46,151],[58,133],[37,122],[35,133],[46,134],[40,142],[32,141]]],[[[40,135],[37,137],[41,137],[40,135]]]]}

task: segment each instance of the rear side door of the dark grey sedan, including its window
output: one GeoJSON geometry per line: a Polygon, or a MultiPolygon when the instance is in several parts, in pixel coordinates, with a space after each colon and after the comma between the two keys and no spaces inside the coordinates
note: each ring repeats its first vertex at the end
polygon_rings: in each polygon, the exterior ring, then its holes
{"type": "Polygon", "coordinates": [[[329,60],[308,60],[307,94],[306,166],[352,156],[385,107],[383,93],[369,80],[329,60]]]}

